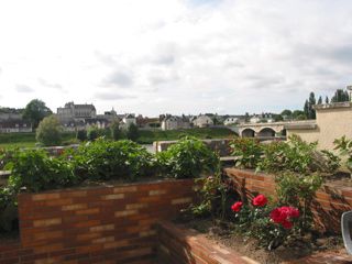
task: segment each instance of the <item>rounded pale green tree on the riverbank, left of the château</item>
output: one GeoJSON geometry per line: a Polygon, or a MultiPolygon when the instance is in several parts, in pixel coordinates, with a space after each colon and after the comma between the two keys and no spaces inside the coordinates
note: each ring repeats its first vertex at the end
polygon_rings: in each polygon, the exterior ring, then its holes
{"type": "Polygon", "coordinates": [[[36,140],[45,146],[59,145],[62,143],[62,125],[54,116],[44,118],[36,130],[36,140]]]}

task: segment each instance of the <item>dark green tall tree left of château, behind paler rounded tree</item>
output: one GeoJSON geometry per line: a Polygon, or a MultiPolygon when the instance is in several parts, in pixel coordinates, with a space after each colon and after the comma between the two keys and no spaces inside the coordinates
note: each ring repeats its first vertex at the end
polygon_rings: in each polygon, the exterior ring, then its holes
{"type": "Polygon", "coordinates": [[[25,106],[23,119],[31,122],[32,127],[36,129],[38,123],[52,113],[52,110],[45,106],[45,102],[33,99],[25,106]]]}

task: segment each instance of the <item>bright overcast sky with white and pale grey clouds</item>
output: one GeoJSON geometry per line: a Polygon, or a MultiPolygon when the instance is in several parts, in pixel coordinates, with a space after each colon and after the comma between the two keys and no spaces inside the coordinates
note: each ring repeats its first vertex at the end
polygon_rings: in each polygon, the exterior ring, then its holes
{"type": "Polygon", "coordinates": [[[351,0],[0,1],[0,106],[302,108],[352,84],[351,0]]]}

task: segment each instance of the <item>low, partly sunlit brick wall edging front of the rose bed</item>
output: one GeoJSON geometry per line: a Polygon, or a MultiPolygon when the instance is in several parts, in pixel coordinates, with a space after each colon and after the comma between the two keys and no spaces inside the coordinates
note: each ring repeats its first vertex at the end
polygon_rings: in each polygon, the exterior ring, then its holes
{"type": "MultiPolygon", "coordinates": [[[[158,264],[245,264],[233,250],[211,242],[194,230],[158,223],[158,264]]],[[[253,262],[252,262],[253,263],[253,262]]]]}

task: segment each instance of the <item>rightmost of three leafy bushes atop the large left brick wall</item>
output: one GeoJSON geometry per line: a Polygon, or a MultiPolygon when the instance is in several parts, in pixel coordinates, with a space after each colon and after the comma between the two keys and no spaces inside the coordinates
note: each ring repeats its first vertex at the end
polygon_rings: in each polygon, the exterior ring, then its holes
{"type": "Polygon", "coordinates": [[[215,172],[219,157],[205,143],[184,138],[157,154],[162,172],[175,178],[195,178],[215,172]]]}

